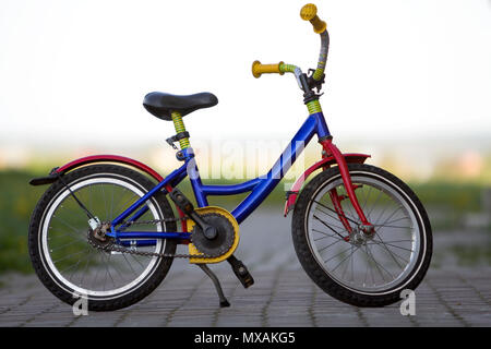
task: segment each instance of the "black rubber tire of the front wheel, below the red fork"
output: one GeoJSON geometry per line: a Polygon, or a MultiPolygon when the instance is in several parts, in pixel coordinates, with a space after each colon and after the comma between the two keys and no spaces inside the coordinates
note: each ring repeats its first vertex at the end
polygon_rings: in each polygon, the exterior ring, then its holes
{"type": "Polygon", "coordinates": [[[312,201],[316,197],[315,195],[322,193],[321,190],[327,190],[331,188],[327,185],[335,185],[335,181],[337,181],[336,183],[339,183],[340,173],[337,167],[330,168],[319,173],[304,186],[300,193],[292,217],[292,240],[295,251],[306,273],[322,290],[330,296],[356,306],[388,305],[400,300],[400,291],[403,289],[415,290],[423,279],[429,268],[432,255],[432,233],[430,220],[424,207],[416,194],[409,189],[408,185],[392,173],[374,166],[361,164],[349,164],[348,168],[351,177],[358,176],[358,178],[366,178],[371,181],[381,181],[384,185],[393,189],[394,192],[400,194],[400,197],[404,197],[406,201],[405,204],[412,209],[414,217],[417,217],[419,239],[421,241],[417,257],[415,256],[416,262],[412,269],[407,272],[409,274],[404,276],[404,279],[402,279],[400,282],[397,281],[397,285],[391,285],[391,287],[387,287],[386,290],[379,292],[367,292],[359,291],[358,289],[354,289],[336,280],[336,278],[332,277],[332,275],[330,275],[330,273],[327,273],[327,270],[323,267],[319,258],[315,257],[315,253],[312,251],[311,242],[309,240],[309,212],[311,209],[312,201]]]}

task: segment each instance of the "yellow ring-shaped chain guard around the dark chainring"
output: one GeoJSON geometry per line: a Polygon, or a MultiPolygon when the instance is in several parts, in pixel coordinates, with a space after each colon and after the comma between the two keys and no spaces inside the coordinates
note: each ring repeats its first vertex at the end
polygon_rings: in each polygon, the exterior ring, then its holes
{"type": "MultiPolygon", "coordinates": [[[[239,245],[239,224],[237,222],[236,218],[225,208],[218,207],[218,206],[206,206],[206,207],[200,207],[200,208],[195,208],[194,209],[199,215],[204,215],[204,214],[218,214],[221,216],[225,216],[233,226],[233,232],[235,232],[235,239],[233,239],[233,243],[232,246],[230,248],[230,250],[228,250],[225,254],[218,256],[218,257],[213,257],[213,258],[201,258],[201,257],[193,257],[193,258],[189,258],[189,263],[194,263],[194,264],[199,264],[199,263],[219,263],[223,262],[225,260],[227,260],[229,256],[232,255],[232,253],[236,251],[237,246],[239,245]]],[[[192,231],[193,227],[194,227],[194,221],[192,221],[191,219],[187,220],[187,226],[188,226],[188,231],[192,231]]],[[[189,254],[200,254],[201,252],[197,251],[196,246],[192,243],[188,244],[188,249],[189,249],[189,254]]]]}

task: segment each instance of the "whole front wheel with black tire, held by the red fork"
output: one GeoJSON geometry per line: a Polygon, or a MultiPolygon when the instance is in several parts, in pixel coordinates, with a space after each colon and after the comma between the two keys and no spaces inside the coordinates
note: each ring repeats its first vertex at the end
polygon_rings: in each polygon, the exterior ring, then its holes
{"type": "Polygon", "coordinates": [[[348,168],[374,231],[361,229],[339,169],[333,167],[300,193],[292,218],[295,250],[330,296],[357,306],[388,305],[400,300],[404,289],[416,289],[428,270],[430,221],[416,194],[395,176],[369,165],[348,168]]]}

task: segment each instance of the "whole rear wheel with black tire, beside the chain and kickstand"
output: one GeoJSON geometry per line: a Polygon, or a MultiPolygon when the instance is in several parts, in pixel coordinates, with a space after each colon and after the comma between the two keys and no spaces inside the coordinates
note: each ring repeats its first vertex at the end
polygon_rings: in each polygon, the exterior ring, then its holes
{"type": "MultiPolygon", "coordinates": [[[[155,186],[140,172],[113,165],[76,169],[63,176],[63,182],[94,216],[107,222],[155,186]]],[[[141,221],[175,217],[164,194],[148,200],[147,207],[141,221]]],[[[176,222],[139,226],[139,230],[176,231],[176,222]]],[[[171,257],[96,249],[89,232],[85,212],[61,181],[55,182],[31,218],[29,255],[43,284],[69,304],[84,297],[94,311],[131,305],[151,293],[171,266],[171,257]]],[[[173,254],[176,243],[160,239],[133,249],[173,254]]]]}

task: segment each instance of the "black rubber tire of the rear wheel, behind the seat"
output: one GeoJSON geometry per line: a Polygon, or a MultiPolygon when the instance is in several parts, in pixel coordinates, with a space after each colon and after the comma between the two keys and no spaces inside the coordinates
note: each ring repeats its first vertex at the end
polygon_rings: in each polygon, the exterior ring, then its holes
{"type": "MultiPolygon", "coordinates": [[[[147,177],[143,176],[142,173],[130,168],[116,165],[86,166],[75,169],[62,177],[63,182],[69,186],[75,185],[76,183],[82,183],[82,181],[84,180],[97,180],[103,178],[115,179],[124,183],[129,183],[133,188],[137,188],[142,193],[146,193],[155,186],[155,183],[153,183],[147,177]]],[[[79,299],[74,296],[80,296],[80,292],[70,287],[68,285],[69,282],[63,282],[62,278],[58,277],[53,268],[49,266],[49,264],[47,263],[47,255],[44,252],[46,251],[46,249],[44,249],[43,246],[41,239],[41,230],[44,225],[46,224],[44,219],[46,218],[49,209],[56,209],[50,207],[55,205],[55,201],[63,192],[63,195],[65,195],[67,189],[64,184],[61,181],[57,181],[44,193],[44,195],[37,203],[31,217],[28,251],[34,269],[45,287],[63,302],[73,304],[79,299]]],[[[152,207],[154,207],[154,212],[158,213],[159,219],[175,217],[172,208],[170,207],[164,194],[156,194],[153,198],[151,198],[151,202],[153,205],[152,207]]],[[[63,202],[60,202],[60,205],[63,202]]],[[[80,209],[80,212],[81,215],[84,215],[82,209],[80,209]]],[[[52,213],[52,216],[55,216],[55,213],[52,213]]],[[[84,219],[86,221],[88,218],[86,218],[85,216],[84,219]]],[[[49,225],[50,222],[47,224],[49,225]]],[[[176,222],[170,221],[161,224],[161,230],[176,231],[176,222]]],[[[172,240],[167,240],[160,246],[164,251],[159,252],[169,254],[173,254],[176,252],[176,242],[173,242],[172,240]]],[[[94,248],[88,245],[88,249],[94,248]]],[[[94,253],[105,252],[95,251],[94,253]]],[[[113,311],[136,303],[137,301],[148,296],[163,281],[172,264],[172,257],[157,257],[156,260],[153,260],[153,262],[151,262],[152,264],[149,264],[152,265],[152,267],[148,266],[148,268],[145,269],[145,277],[143,277],[137,282],[135,281],[136,284],[134,286],[121,291],[120,293],[115,293],[106,297],[86,296],[88,310],[113,311]]]]}

